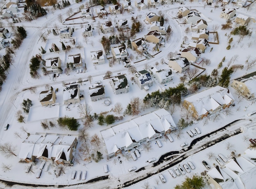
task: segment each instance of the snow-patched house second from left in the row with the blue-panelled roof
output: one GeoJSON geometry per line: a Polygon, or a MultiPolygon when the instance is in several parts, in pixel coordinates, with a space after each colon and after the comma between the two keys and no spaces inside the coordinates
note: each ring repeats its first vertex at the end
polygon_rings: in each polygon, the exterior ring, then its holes
{"type": "Polygon", "coordinates": [[[80,103],[79,85],[69,85],[63,90],[63,101],[65,105],[80,103]]]}

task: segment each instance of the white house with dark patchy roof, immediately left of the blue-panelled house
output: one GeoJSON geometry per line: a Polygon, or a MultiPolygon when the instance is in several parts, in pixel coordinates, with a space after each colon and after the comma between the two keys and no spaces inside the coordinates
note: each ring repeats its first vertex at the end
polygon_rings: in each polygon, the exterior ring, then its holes
{"type": "Polygon", "coordinates": [[[129,92],[129,84],[125,75],[118,75],[111,79],[111,87],[115,94],[129,92]]]}

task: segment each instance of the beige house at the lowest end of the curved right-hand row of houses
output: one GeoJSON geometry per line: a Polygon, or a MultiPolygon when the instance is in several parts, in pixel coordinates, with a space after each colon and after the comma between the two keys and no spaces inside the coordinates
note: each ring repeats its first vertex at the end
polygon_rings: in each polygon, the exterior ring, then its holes
{"type": "Polygon", "coordinates": [[[173,68],[179,73],[186,71],[189,68],[189,61],[185,57],[173,57],[168,63],[170,68],[173,68]]]}

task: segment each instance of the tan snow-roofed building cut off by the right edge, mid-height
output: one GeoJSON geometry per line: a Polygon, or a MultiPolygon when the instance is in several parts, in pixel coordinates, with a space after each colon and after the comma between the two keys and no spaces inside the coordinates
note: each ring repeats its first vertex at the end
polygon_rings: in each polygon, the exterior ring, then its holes
{"type": "Polygon", "coordinates": [[[255,99],[256,97],[256,72],[244,75],[232,81],[231,87],[236,89],[239,95],[242,95],[247,100],[255,99]]]}

